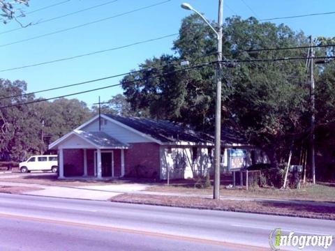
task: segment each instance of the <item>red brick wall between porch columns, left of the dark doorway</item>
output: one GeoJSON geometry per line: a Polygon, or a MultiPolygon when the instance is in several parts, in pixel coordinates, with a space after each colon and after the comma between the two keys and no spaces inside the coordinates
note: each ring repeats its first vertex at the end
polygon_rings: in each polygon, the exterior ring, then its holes
{"type": "Polygon", "coordinates": [[[84,151],[82,149],[64,149],[64,176],[82,176],[84,174],[84,151]]]}

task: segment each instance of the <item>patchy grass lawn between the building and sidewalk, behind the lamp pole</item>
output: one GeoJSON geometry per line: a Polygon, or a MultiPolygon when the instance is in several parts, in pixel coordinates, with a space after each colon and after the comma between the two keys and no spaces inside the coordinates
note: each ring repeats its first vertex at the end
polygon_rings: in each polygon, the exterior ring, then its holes
{"type": "MultiPolygon", "coordinates": [[[[194,188],[192,183],[172,183],[172,185],[154,185],[147,190],[152,192],[175,192],[182,194],[212,195],[213,188],[194,188]]],[[[221,186],[221,196],[228,197],[255,197],[271,199],[297,199],[311,201],[332,201],[335,202],[335,183],[318,183],[316,185],[306,184],[300,190],[275,188],[249,188],[249,190],[236,188],[227,189],[221,186]]]]}

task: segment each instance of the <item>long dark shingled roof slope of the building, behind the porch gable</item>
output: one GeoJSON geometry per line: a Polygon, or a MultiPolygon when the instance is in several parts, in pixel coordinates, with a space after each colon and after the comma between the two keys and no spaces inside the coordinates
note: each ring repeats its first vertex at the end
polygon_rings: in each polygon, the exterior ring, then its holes
{"type": "MultiPolygon", "coordinates": [[[[195,144],[213,144],[214,136],[202,132],[196,132],[191,128],[181,126],[180,124],[172,123],[165,120],[146,119],[138,117],[126,117],[114,114],[103,114],[108,118],[122,123],[129,128],[133,128],[139,132],[149,135],[157,139],[163,144],[177,143],[177,142],[192,142],[195,144]]],[[[245,141],[239,137],[234,137],[233,133],[221,133],[222,144],[244,144],[245,141]]]]}

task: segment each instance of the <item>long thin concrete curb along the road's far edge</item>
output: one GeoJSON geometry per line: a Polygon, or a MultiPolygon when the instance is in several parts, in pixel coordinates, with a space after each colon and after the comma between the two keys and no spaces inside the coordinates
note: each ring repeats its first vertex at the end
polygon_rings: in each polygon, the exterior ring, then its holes
{"type": "Polygon", "coordinates": [[[234,209],[234,208],[211,208],[209,206],[184,206],[184,205],[176,205],[176,204],[159,204],[159,203],[151,203],[151,202],[131,202],[131,201],[121,201],[117,199],[110,199],[111,202],[117,203],[127,203],[127,204],[140,204],[140,205],[149,205],[149,206],[169,206],[169,207],[177,207],[177,208],[190,208],[190,209],[200,209],[200,210],[214,210],[214,211],[225,211],[225,212],[235,212],[235,213],[255,213],[261,215],[275,215],[275,216],[286,216],[286,217],[294,217],[294,218],[309,218],[316,220],[334,220],[333,216],[321,216],[321,215],[300,215],[299,213],[274,213],[269,211],[250,211],[243,209],[234,209]]]}

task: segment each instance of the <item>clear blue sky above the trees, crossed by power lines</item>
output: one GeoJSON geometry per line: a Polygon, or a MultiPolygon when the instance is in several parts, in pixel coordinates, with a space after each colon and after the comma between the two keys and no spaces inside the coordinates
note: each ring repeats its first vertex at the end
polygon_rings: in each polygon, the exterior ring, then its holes
{"type": "MultiPolygon", "coordinates": [[[[47,20],[59,15],[65,15],[77,10],[106,3],[109,0],[69,0],[64,4],[40,10],[21,18],[21,22],[38,22],[47,20]]],[[[160,6],[130,13],[121,17],[98,22],[79,29],[65,31],[63,33],[30,40],[24,43],[17,43],[1,47],[17,40],[24,40],[34,36],[43,35],[60,29],[66,29],[86,22],[99,20],[112,15],[117,15],[136,8],[142,8],[164,0],[119,0],[107,4],[101,8],[95,8],[83,13],[77,13],[68,17],[46,22],[36,26],[29,26],[25,29],[11,33],[0,34],[0,70],[25,66],[43,61],[61,59],[67,56],[75,56],[98,50],[106,50],[121,45],[135,43],[172,33],[177,33],[181,20],[189,11],[179,6],[182,0],[172,0],[160,6]]],[[[186,1],[186,0],[184,0],[186,1]]],[[[27,12],[49,6],[52,3],[59,3],[61,0],[31,0],[27,12]]],[[[255,16],[259,19],[270,17],[283,17],[308,13],[322,13],[335,11],[334,0],[224,0],[224,17],[240,15],[243,18],[255,16]],[[246,4],[245,4],[246,3],[246,4]],[[248,6],[253,10],[250,10],[248,6]]],[[[218,1],[217,0],[189,0],[194,8],[197,8],[210,20],[216,20],[218,1]]],[[[334,37],[335,15],[322,15],[315,17],[303,17],[290,20],[278,20],[276,23],[288,24],[292,29],[302,30],[307,35],[332,36],[334,37]]],[[[19,27],[16,22],[0,24],[0,32],[19,27]]],[[[152,43],[136,45],[122,50],[95,54],[92,56],[63,61],[0,73],[1,78],[15,80],[23,79],[28,83],[28,91],[52,88],[66,84],[74,84],[90,79],[127,73],[137,68],[144,59],[152,56],[160,56],[163,53],[172,53],[170,48],[174,38],[165,38],[152,43]]],[[[40,93],[38,96],[51,98],[54,96],[74,93],[87,89],[94,89],[100,86],[117,84],[119,79],[110,79],[91,84],[84,84],[59,91],[40,93]]],[[[98,96],[101,100],[109,100],[122,89],[114,87],[103,91],[96,91],[88,94],[74,96],[87,102],[91,106],[97,102],[98,96]]]]}

